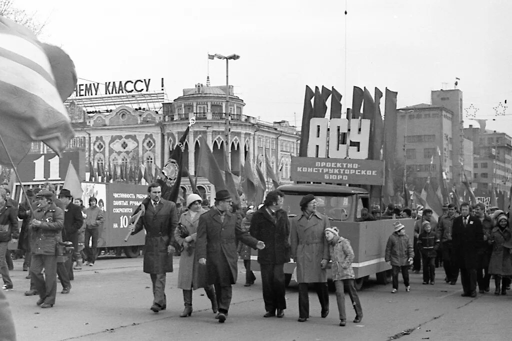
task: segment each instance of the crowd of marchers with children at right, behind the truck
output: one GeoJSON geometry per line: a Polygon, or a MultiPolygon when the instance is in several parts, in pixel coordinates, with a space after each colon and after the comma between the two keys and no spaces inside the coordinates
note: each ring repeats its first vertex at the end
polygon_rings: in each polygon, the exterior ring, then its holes
{"type": "Polygon", "coordinates": [[[477,287],[480,293],[489,292],[492,278],[494,294],[506,295],[512,278],[509,213],[498,207],[486,210],[482,202],[473,206],[462,203],[459,207],[449,204],[443,207],[443,214],[436,221],[432,210],[422,209],[405,208],[393,213],[413,218],[415,224],[412,242],[400,223],[388,240],[386,261],[393,267],[392,292],[397,292],[399,271],[406,291],[410,291],[410,266],[416,274],[423,267],[423,284],[435,284],[435,268],[442,264],[446,283],[455,285],[460,272],[462,296],[476,297],[477,287]]]}

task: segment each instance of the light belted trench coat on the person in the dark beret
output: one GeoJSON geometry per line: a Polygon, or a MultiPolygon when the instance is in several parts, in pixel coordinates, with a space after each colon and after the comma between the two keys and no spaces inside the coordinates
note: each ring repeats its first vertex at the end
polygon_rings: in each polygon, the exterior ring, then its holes
{"type": "Polygon", "coordinates": [[[327,282],[322,259],[329,260],[329,245],[324,231],[330,226],[326,215],[314,212],[293,217],[290,231],[291,256],[297,263],[297,283],[327,282]]]}

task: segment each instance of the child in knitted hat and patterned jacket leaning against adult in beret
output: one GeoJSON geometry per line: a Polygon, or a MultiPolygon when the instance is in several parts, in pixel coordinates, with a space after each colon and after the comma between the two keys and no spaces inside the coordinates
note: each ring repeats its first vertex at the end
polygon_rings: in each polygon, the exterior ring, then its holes
{"type": "Polygon", "coordinates": [[[339,325],[345,326],[347,324],[344,287],[349,291],[352,306],[355,310],[354,323],[359,323],[362,319],[362,308],[355,288],[355,276],[354,270],[352,269],[354,251],[350,245],[350,241],[338,235],[337,228],[329,227],[325,229],[324,233],[329,242],[329,253],[332,261],[332,280],[336,287],[336,301],[339,311],[339,325]]]}

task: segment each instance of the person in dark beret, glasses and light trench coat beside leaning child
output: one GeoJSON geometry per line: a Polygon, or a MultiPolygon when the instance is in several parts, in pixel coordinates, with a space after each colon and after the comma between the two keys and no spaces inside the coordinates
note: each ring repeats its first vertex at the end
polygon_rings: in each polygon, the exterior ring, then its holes
{"type": "Polygon", "coordinates": [[[316,212],[313,194],[305,195],[301,202],[302,213],[291,221],[291,257],[297,263],[299,322],[309,317],[308,283],[314,283],[322,306],[321,316],[329,314],[329,291],[326,266],[329,262],[329,245],[324,231],[329,228],[326,215],[316,212]]]}

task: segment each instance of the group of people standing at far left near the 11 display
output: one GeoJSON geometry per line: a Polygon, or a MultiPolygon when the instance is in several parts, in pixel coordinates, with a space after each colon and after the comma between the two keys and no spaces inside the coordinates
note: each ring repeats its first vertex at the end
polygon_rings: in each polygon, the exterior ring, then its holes
{"type": "Polygon", "coordinates": [[[30,289],[25,295],[39,295],[37,305],[51,308],[55,304],[57,278],[62,285],[61,293],[67,294],[74,280],[73,270],[82,268],[82,257],[86,265],[94,265],[103,211],[95,197],[91,197],[89,207],[84,208],[82,200],[73,200],[67,189],[62,189],[57,196],[50,183],[42,188],[27,189],[25,193],[25,200],[18,206],[10,199],[8,190],[0,189],[0,225],[4,229],[0,231],[3,289],[13,289],[7,244],[17,242],[18,251],[24,257],[23,270],[28,271],[26,278],[30,279],[30,289]],[[18,218],[22,219],[19,231],[18,218]]]}

